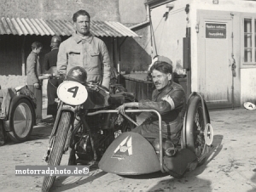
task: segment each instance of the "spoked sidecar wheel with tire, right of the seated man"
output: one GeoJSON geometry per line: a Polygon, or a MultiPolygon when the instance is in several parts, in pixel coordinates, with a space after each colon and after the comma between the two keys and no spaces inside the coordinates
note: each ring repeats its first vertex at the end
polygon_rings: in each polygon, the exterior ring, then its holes
{"type": "MultiPolygon", "coordinates": [[[[206,153],[208,150],[207,144],[205,144],[205,136],[204,131],[207,123],[210,123],[210,116],[207,110],[207,105],[204,102],[205,113],[206,113],[206,123],[204,122],[203,116],[203,107],[201,104],[201,98],[199,96],[195,96],[189,102],[189,109],[185,118],[185,145],[189,150],[195,152],[197,159],[200,159],[202,155],[206,153]],[[206,149],[204,149],[206,146],[206,149]]],[[[198,166],[201,166],[207,158],[204,158],[201,162],[199,162],[198,166]]]]}

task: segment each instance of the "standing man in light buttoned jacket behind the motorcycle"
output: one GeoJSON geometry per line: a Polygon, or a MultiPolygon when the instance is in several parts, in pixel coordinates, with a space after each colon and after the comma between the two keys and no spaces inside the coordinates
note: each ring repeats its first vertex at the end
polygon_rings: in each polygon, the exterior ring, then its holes
{"type": "Polygon", "coordinates": [[[109,88],[110,59],[108,49],[101,39],[90,33],[90,14],[79,10],[73,14],[75,32],[61,43],[57,71],[61,76],[74,66],[84,67],[87,82],[96,82],[109,88]]]}

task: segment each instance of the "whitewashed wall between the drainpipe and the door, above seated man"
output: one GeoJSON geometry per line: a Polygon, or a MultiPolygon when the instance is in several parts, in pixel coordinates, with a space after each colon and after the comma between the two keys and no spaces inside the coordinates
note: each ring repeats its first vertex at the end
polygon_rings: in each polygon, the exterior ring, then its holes
{"type": "MultiPolygon", "coordinates": [[[[183,66],[183,37],[186,37],[185,2],[174,2],[174,8],[166,8],[166,4],[151,11],[154,28],[154,54],[164,55],[172,59],[174,70],[183,66]],[[165,15],[165,16],[164,16],[165,15]]],[[[179,71],[183,73],[183,71],[179,71]]]]}

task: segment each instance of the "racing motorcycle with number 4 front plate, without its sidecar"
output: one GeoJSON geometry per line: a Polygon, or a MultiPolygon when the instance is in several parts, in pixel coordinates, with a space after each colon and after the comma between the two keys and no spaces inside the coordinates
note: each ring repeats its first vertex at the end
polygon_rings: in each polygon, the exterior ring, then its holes
{"type": "MultiPolygon", "coordinates": [[[[99,111],[114,110],[125,102],[135,101],[132,93],[119,84],[110,91],[93,83],[64,81],[57,89],[58,110],[44,155],[48,166],[59,166],[63,153],[69,151],[68,165],[91,165],[99,161],[120,133],[134,127],[136,116],[99,111]],[[91,117],[93,116],[93,117],[91,117]],[[129,120],[129,121],[128,121],[129,120]]],[[[55,176],[45,176],[42,191],[49,191],[55,176]]]]}

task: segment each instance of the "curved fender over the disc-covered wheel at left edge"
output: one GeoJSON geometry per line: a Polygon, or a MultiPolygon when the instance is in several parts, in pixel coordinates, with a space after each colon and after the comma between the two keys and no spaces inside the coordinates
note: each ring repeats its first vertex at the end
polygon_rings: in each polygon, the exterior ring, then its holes
{"type": "Polygon", "coordinates": [[[9,132],[11,131],[10,129],[10,121],[9,121],[9,116],[11,114],[11,112],[14,110],[14,105],[15,103],[17,103],[20,99],[26,99],[29,103],[32,104],[32,106],[34,107],[34,109],[36,108],[36,105],[32,102],[32,100],[24,95],[24,94],[20,94],[20,95],[15,95],[12,99],[11,99],[11,102],[10,102],[10,106],[9,106],[9,113],[8,113],[8,116],[7,116],[7,120],[6,121],[3,121],[3,127],[5,129],[5,131],[9,132]]]}

